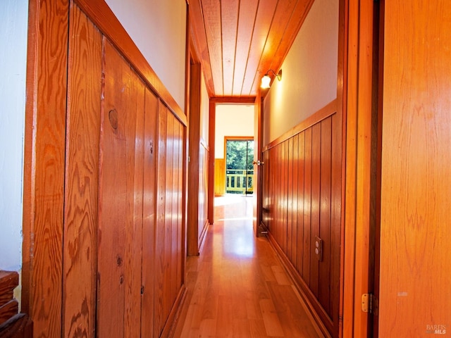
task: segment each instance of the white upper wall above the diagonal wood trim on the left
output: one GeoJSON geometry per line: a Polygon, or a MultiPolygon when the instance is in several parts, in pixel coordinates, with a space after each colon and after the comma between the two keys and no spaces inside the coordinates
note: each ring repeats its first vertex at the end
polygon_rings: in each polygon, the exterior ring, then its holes
{"type": "Polygon", "coordinates": [[[185,111],[186,0],[105,2],[185,111]]]}

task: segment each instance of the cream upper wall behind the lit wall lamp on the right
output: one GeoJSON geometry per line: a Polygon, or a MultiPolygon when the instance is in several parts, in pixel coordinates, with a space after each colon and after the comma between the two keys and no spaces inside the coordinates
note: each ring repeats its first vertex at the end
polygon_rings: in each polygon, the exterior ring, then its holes
{"type": "Polygon", "coordinates": [[[264,145],[337,97],[338,0],[315,0],[264,101],[264,145]]]}

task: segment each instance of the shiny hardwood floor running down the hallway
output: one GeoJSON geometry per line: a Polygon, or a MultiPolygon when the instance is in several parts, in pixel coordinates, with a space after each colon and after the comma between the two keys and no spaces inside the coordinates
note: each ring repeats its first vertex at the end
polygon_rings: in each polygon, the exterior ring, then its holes
{"type": "Polygon", "coordinates": [[[187,299],[173,337],[322,337],[266,237],[252,198],[215,199],[200,256],[187,258],[187,299]]]}

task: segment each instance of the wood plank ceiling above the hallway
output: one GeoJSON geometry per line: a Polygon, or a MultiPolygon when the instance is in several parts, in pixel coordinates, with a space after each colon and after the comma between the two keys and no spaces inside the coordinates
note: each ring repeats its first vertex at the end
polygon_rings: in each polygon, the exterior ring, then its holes
{"type": "Polygon", "coordinates": [[[209,96],[256,96],[261,77],[278,72],[313,1],[190,0],[209,96]]]}

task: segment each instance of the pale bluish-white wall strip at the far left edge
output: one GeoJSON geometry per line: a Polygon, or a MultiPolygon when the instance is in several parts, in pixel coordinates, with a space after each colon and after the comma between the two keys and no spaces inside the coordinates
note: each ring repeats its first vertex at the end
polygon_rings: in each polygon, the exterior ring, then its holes
{"type": "Polygon", "coordinates": [[[0,269],[22,266],[27,0],[0,1],[0,269]]]}

